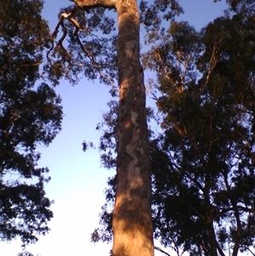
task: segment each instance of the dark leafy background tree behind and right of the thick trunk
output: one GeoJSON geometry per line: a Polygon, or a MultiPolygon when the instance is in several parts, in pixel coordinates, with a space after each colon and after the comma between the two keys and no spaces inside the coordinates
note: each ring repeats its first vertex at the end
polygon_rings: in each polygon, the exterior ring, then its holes
{"type": "MultiPolygon", "coordinates": [[[[161,93],[162,133],[150,140],[154,235],[178,253],[254,254],[253,17],[254,3],[240,1],[200,32],[184,21],[148,31],[144,63],[161,93]]],[[[93,241],[111,239],[111,218],[106,205],[93,241]]]]}

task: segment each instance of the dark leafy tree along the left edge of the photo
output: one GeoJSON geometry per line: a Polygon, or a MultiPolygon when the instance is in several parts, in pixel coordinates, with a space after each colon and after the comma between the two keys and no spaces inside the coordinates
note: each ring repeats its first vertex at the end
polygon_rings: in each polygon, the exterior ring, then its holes
{"type": "Polygon", "coordinates": [[[36,242],[53,217],[36,148],[59,132],[62,108],[54,88],[38,81],[49,35],[42,1],[0,5],[0,237],[36,242]]]}

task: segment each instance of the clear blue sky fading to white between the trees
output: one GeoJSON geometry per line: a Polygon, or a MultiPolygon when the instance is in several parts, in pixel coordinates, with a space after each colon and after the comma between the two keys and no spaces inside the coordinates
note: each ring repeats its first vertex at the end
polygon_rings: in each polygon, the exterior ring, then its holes
{"type": "MultiPolygon", "coordinates": [[[[150,3],[150,0],[147,0],[150,3]]],[[[201,28],[208,21],[223,14],[224,1],[179,0],[184,8],[183,20],[201,28]]],[[[59,8],[70,4],[68,0],[45,0],[42,16],[51,29],[57,22],[59,8]]],[[[98,145],[100,132],[96,124],[107,111],[111,99],[109,88],[85,78],[76,87],[63,81],[57,88],[62,98],[65,117],[63,128],[48,148],[39,148],[39,164],[50,169],[52,180],[46,185],[47,196],[54,200],[51,208],[54,219],[49,222],[51,231],[40,236],[39,242],[26,249],[35,256],[106,256],[111,245],[90,242],[90,234],[99,223],[99,212],[105,202],[106,180],[114,171],[100,166],[99,151],[82,151],[82,141],[98,145]]],[[[0,256],[16,256],[21,252],[20,240],[0,242],[0,256]]],[[[167,251],[169,253],[169,251],[167,251]]],[[[161,253],[157,253],[161,255],[161,253]]]]}

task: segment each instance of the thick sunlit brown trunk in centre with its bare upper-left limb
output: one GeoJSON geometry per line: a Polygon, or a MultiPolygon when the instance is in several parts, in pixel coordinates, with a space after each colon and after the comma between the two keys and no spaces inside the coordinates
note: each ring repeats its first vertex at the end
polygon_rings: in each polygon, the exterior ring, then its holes
{"type": "Polygon", "coordinates": [[[136,0],[74,0],[82,8],[115,8],[120,102],[117,126],[113,256],[152,256],[151,180],[144,73],[139,62],[136,0]]]}

